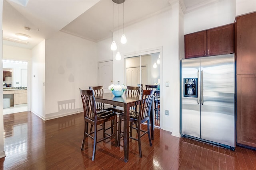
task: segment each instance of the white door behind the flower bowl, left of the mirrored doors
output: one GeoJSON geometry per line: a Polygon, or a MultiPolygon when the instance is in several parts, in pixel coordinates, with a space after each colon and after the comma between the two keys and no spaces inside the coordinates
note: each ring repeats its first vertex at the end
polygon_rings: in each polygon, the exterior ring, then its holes
{"type": "Polygon", "coordinates": [[[113,84],[113,61],[98,63],[98,86],[103,86],[104,92],[109,92],[110,84],[113,84]]]}

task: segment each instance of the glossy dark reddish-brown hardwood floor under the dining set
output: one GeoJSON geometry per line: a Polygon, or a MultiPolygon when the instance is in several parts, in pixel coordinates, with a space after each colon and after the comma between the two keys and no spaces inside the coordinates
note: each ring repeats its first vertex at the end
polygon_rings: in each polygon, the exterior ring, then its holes
{"type": "Polygon", "coordinates": [[[235,151],[223,149],[173,137],[170,132],[158,128],[155,129],[152,147],[147,135],[142,137],[142,158],[139,157],[137,141],[130,140],[129,161],[125,163],[123,147],[115,147],[112,139],[98,143],[96,158],[92,161],[91,139],[87,138],[84,150],[80,150],[83,130],[83,113],[48,121],[42,121],[31,112],[4,115],[4,150],[7,156],[0,159],[0,169],[256,169],[255,150],[242,147],[236,147],[235,151]]]}

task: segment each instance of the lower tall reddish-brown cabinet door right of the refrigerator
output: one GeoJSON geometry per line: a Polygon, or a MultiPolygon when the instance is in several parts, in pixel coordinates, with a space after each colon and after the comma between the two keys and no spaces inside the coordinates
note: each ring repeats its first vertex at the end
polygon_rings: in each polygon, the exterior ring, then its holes
{"type": "Polygon", "coordinates": [[[237,75],[236,133],[238,144],[256,147],[256,74],[237,75]]]}

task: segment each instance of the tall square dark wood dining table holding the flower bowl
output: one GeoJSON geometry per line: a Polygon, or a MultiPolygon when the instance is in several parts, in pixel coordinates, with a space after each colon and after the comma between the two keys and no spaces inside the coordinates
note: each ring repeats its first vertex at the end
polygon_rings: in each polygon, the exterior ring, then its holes
{"type": "MultiPolygon", "coordinates": [[[[129,120],[130,120],[130,107],[140,104],[141,95],[128,95],[116,97],[112,93],[96,94],[94,95],[96,102],[110,104],[113,106],[120,106],[124,108],[124,162],[128,162],[129,157],[129,120]]],[[[150,131],[151,139],[154,140],[154,117],[153,117],[153,101],[150,111],[150,131]]]]}

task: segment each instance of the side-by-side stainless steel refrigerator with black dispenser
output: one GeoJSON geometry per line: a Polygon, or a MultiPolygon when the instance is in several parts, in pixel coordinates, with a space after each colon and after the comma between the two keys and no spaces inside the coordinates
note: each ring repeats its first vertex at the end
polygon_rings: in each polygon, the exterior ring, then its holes
{"type": "Polygon", "coordinates": [[[234,54],[182,59],[182,136],[234,150],[234,54]]]}

